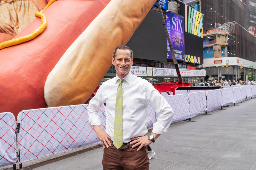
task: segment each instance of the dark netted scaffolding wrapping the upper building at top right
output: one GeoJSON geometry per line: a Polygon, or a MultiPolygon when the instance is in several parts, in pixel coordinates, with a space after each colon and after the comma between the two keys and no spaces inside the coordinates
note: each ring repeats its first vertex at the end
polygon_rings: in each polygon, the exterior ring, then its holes
{"type": "Polygon", "coordinates": [[[228,32],[229,56],[256,61],[256,37],[247,30],[247,9],[245,1],[240,0],[201,0],[203,30],[204,34],[228,32]]]}

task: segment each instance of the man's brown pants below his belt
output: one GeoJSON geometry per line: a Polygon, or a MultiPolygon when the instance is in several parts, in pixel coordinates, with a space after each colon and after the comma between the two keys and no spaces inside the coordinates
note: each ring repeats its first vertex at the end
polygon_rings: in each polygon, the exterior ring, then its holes
{"type": "Polygon", "coordinates": [[[121,169],[148,169],[147,146],[143,146],[139,151],[135,148],[117,149],[110,146],[104,149],[102,165],[104,170],[121,170],[121,169]]]}

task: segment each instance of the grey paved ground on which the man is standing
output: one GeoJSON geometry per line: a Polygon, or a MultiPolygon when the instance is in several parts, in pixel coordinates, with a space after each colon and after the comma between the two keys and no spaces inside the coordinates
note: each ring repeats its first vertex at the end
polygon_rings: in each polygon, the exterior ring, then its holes
{"type": "MultiPolygon", "coordinates": [[[[172,124],[150,146],[149,167],[256,170],[256,98],[172,124]]],[[[103,148],[43,165],[43,169],[103,169],[103,148]]],[[[29,167],[28,167],[29,168],[29,167]]]]}

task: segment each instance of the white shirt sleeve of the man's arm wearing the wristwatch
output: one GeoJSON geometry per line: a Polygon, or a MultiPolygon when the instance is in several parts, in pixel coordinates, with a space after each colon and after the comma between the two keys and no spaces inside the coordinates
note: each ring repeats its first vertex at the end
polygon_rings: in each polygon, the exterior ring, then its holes
{"type": "Polygon", "coordinates": [[[151,106],[155,112],[159,113],[157,122],[153,125],[152,132],[156,134],[166,133],[173,120],[173,109],[152,84],[147,84],[145,93],[147,104],[151,106]]]}

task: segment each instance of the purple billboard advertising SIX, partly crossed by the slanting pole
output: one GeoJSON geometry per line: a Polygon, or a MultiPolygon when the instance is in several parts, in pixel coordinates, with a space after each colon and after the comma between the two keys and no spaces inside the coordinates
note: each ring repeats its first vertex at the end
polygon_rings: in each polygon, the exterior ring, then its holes
{"type": "MultiPolygon", "coordinates": [[[[166,27],[172,43],[174,54],[177,60],[184,60],[185,46],[184,46],[184,18],[172,12],[166,15],[166,27]]],[[[167,59],[173,59],[170,47],[167,42],[167,59]]]]}

